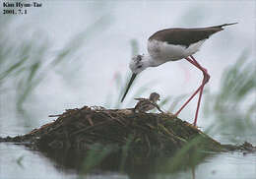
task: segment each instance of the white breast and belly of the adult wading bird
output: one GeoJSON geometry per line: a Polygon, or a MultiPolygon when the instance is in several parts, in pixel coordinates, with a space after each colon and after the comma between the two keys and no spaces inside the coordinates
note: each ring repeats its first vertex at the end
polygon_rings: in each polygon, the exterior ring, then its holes
{"type": "Polygon", "coordinates": [[[148,41],[148,51],[153,58],[159,59],[164,63],[166,61],[180,60],[196,53],[204,41],[205,39],[186,47],[153,39],[148,41]]]}

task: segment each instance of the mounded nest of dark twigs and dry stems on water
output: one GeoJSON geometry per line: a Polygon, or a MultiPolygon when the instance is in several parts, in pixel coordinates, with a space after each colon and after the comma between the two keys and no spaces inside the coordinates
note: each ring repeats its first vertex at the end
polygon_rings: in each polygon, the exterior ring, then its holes
{"type": "Polygon", "coordinates": [[[140,153],[172,153],[200,137],[198,149],[220,150],[221,144],[169,113],[136,113],[131,109],[89,107],[68,109],[16,141],[31,141],[40,149],[87,150],[100,144],[140,153]],[[161,152],[162,151],[162,152],[161,152]]]}

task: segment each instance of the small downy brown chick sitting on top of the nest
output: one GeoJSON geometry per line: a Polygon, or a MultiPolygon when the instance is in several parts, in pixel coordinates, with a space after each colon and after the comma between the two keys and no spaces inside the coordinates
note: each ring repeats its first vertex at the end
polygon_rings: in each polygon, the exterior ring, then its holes
{"type": "Polygon", "coordinates": [[[139,102],[134,107],[134,112],[147,112],[155,107],[163,112],[157,104],[157,101],[160,100],[160,94],[157,92],[152,92],[149,98],[135,98],[135,100],[139,100],[139,102]]]}

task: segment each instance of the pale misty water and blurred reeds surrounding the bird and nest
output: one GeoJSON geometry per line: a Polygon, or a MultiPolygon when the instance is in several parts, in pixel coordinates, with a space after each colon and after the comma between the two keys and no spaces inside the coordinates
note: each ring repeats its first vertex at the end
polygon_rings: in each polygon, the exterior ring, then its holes
{"type": "MultiPolygon", "coordinates": [[[[211,75],[198,126],[224,144],[256,145],[255,1],[36,0],[41,8],[15,16],[3,15],[0,1],[0,137],[26,134],[54,120],[48,115],[69,108],[133,107],[133,97],[152,91],[166,99],[163,109],[175,112],[201,84],[201,72],[185,60],[149,68],[120,104],[132,54],[147,53],[147,39],[157,30],[238,22],[213,35],[195,55],[211,75]]],[[[193,122],[196,102],[179,117],[193,122]]],[[[1,144],[0,155],[5,156],[0,178],[77,178],[20,146],[1,144]]],[[[254,178],[255,158],[220,153],[197,166],[196,178],[254,178]]],[[[128,178],[118,172],[101,178],[112,176],[128,178]]]]}

